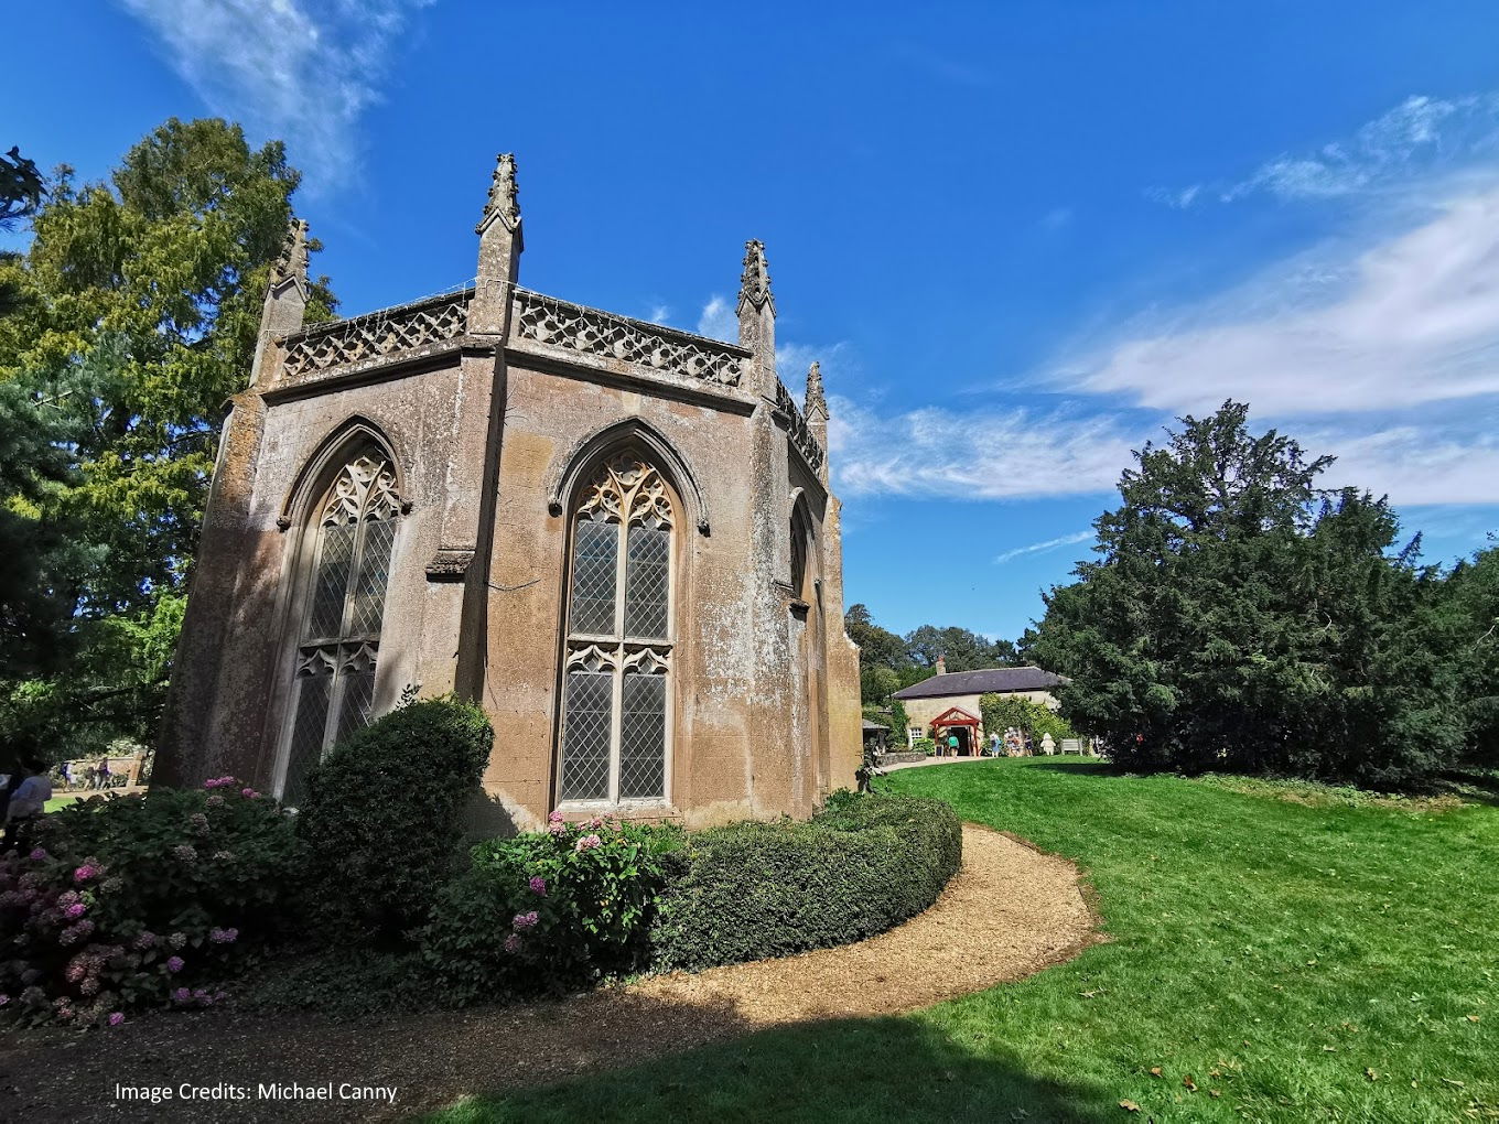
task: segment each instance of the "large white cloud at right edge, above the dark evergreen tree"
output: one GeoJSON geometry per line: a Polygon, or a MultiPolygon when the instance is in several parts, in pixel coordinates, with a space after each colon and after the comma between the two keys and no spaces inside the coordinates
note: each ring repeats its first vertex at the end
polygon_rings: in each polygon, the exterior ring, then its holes
{"type": "Polygon", "coordinates": [[[1279,417],[1499,394],[1499,189],[1277,262],[1060,378],[1157,409],[1235,397],[1279,417]]]}

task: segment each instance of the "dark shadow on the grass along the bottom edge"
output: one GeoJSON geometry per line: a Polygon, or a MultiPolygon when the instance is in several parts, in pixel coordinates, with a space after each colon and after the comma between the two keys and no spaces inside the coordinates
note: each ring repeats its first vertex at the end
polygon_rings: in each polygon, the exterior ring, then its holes
{"type": "MultiPolygon", "coordinates": [[[[580,1025],[579,1033],[591,1031],[580,1025]]],[[[764,1030],[622,1072],[474,1096],[429,1121],[1091,1123],[1120,1115],[1117,1096],[1030,1076],[1000,1043],[956,1042],[920,1018],[877,1018],[764,1030]]]]}

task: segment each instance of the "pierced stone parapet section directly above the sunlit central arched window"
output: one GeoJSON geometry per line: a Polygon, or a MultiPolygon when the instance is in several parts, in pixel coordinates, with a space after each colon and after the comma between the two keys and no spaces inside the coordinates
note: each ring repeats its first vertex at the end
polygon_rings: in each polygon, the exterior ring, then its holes
{"type": "Polygon", "coordinates": [[[523,340],[622,360],[717,387],[738,387],[745,352],[729,343],[516,289],[511,331],[523,340]]]}

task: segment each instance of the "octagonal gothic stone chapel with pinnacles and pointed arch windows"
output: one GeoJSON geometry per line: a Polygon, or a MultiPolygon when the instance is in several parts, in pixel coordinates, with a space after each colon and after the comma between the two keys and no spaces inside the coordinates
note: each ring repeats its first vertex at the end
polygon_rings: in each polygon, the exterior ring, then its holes
{"type": "Polygon", "coordinates": [[[748,243],[739,343],[519,285],[514,160],[472,288],[303,327],[306,228],[232,400],[156,779],[232,773],[295,805],[403,694],[495,727],[504,824],[806,815],[851,785],[827,403],[775,372],[748,243]]]}

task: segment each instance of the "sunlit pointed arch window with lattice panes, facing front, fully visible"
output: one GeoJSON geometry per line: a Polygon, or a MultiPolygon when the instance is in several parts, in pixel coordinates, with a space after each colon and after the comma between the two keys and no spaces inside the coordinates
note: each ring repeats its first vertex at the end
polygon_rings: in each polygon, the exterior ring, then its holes
{"type": "Polygon", "coordinates": [[[609,459],[573,513],[558,793],[667,799],[672,532],[678,505],[636,454],[609,459]]]}

